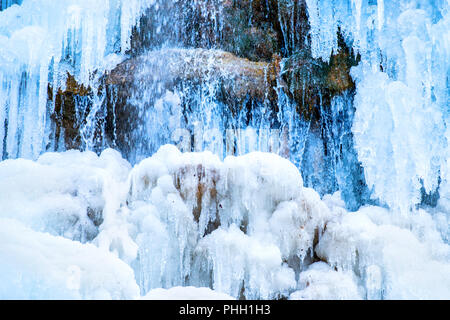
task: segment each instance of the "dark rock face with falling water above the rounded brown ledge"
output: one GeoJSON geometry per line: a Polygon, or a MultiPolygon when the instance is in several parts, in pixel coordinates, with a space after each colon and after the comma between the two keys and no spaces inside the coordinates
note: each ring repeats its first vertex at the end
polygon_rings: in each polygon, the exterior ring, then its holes
{"type": "Polygon", "coordinates": [[[158,0],[132,35],[131,55],[163,45],[222,49],[270,61],[283,38],[275,0],[158,0]],[[170,17],[170,18],[168,18],[170,17]]]}

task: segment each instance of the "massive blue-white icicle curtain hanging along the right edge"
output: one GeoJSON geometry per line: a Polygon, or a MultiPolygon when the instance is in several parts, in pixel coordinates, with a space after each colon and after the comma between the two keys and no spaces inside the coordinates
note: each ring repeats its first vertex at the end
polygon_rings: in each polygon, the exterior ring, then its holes
{"type": "Polygon", "coordinates": [[[361,54],[352,71],[358,159],[373,197],[405,213],[421,203],[422,187],[434,193],[448,179],[449,4],[307,3],[315,56],[328,59],[338,28],[361,54]]]}

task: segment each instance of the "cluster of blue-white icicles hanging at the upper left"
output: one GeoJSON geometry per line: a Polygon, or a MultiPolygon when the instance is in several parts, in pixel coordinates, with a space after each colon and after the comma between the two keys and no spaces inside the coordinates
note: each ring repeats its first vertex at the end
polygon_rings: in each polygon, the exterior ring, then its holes
{"type": "Polygon", "coordinates": [[[152,3],[25,0],[1,13],[3,159],[36,159],[57,149],[52,145],[54,105],[49,96],[65,88],[67,73],[86,87],[97,86],[104,70],[129,50],[132,28],[152,3]]]}

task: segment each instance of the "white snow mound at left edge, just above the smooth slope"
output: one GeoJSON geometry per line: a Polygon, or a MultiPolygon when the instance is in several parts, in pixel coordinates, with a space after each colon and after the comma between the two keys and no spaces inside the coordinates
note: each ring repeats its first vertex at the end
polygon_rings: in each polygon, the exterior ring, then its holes
{"type": "Polygon", "coordinates": [[[120,192],[111,189],[124,183],[129,169],[110,149],[100,157],[68,151],[44,154],[36,162],[0,162],[0,217],[71,240],[92,240],[98,234],[94,216],[107,221],[114,192],[120,192]]]}

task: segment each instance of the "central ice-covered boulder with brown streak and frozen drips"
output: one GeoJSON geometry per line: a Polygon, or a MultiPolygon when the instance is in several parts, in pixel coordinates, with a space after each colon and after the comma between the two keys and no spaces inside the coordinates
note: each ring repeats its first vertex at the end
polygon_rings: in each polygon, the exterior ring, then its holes
{"type": "Polygon", "coordinates": [[[167,145],[137,165],[129,181],[139,246],[134,265],[144,291],[170,284],[234,297],[287,295],[331,215],[316,192],[303,188],[297,168],[274,154],[222,162],[167,145]]]}

